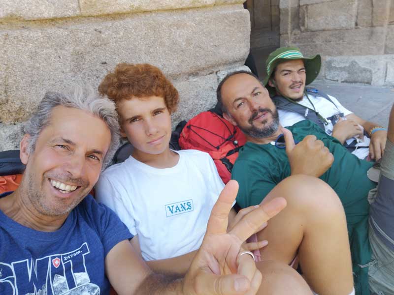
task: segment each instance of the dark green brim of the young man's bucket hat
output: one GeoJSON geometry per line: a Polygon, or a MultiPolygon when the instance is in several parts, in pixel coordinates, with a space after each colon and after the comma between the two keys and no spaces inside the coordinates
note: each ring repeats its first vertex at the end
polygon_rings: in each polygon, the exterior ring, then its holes
{"type": "MultiPolygon", "coordinates": [[[[292,59],[300,59],[299,57],[295,58],[287,58],[287,59],[276,59],[273,64],[272,68],[275,68],[279,63],[282,63],[284,61],[292,60],[292,59]]],[[[305,85],[311,84],[313,81],[315,81],[316,77],[319,75],[320,69],[322,67],[322,58],[321,56],[315,55],[314,57],[304,57],[301,58],[304,61],[305,65],[305,71],[306,71],[306,79],[305,79],[305,85]]],[[[269,76],[266,76],[263,80],[263,85],[265,86],[266,89],[268,89],[269,94],[271,96],[276,94],[275,88],[271,87],[268,85],[268,81],[271,78],[272,72],[269,76]]]]}

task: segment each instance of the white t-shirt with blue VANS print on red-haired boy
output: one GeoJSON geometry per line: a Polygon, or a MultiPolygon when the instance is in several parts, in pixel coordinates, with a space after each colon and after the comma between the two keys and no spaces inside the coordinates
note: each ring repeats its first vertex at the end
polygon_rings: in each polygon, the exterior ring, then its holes
{"type": "Polygon", "coordinates": [[[197,250],[224,187],[209,154],[176,152],[179,161],[172,168],[154,168],[130,156],[106,169],[96,184],[97,200],[138,236],[145,260],[197,250]]]}

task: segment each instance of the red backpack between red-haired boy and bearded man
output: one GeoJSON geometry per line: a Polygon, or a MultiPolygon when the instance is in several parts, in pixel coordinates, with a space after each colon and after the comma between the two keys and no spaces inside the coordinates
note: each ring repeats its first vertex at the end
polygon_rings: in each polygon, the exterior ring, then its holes
{"type": "Polygon", "coordinates": [[[224,183],[231,179],[238,150],[245,143],[245,135],[238,127],[211,111],[190,119],[179,137],[182,149],[198,149],[209,153],[224,183]]]}

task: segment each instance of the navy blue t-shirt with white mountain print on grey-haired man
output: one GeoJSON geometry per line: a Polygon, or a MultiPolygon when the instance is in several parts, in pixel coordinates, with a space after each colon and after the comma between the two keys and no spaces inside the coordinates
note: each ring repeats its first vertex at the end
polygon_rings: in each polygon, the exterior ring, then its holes
{"type": "Polygon", "coordinates": [[[0,294],[108,294],[105,256],[131,237],[118,216],[91,195],[55,232],[25,227],[0,211],[0,294]]]}

